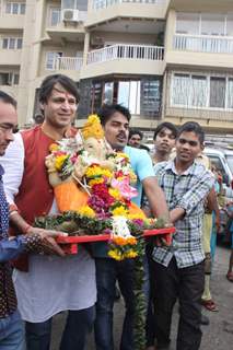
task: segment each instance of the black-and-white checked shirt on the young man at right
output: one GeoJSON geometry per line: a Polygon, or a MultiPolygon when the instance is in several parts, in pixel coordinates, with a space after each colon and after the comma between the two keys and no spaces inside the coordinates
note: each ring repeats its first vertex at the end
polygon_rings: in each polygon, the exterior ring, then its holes
{"type": "Polygon", "coordinates": [[[199,264],[205,258],[201,247],[203,201],[214,184],[214,177],[196,162],[183,174],[177,174],[174,161],[156,164],[154,172],[165,192],[170,211],[183,208],[185,217],[175,223],[172,245],[155,247],[153,259],[168,266],[174,256],[178,268],[199,264]]]}

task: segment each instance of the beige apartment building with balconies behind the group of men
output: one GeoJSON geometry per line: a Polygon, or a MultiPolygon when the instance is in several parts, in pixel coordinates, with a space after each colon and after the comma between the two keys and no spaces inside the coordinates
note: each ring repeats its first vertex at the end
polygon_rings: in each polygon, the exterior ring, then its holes
{"type": "Polygon", "coordinates": [[[233,0],[0,0],[0,89],[20,124],[51,73],[77,81],[78,125],[103,103],[131,124],[233,130],[233,0]]]}

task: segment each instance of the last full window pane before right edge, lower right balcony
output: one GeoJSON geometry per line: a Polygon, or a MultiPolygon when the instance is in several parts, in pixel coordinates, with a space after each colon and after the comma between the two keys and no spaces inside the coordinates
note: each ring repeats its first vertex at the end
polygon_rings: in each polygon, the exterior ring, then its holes
{"type": "Polygon", "coordinates": [[[225,78],[210,77],[210,107],[225,107],[225,78]]]}

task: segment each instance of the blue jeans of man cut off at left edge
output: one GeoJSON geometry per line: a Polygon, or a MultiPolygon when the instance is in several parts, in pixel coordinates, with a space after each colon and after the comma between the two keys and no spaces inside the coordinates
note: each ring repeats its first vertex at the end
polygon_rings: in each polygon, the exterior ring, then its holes
{"type": "Polygon", "coordinates": [[[24,325],[18,311],[0,318],[0,349],[25,350],[24,325]]]}

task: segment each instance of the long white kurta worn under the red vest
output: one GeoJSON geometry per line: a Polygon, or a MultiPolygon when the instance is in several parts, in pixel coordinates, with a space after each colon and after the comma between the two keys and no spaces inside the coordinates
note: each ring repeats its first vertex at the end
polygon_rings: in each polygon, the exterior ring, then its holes
{"type": "MultiPolygon", "coordinates": [[[[24,158],[22,136],[18,133],[0,159],[9,203],[19,191],[24,158]]],[[[50,213],[56,212],[54,201],[50,213]]],[[[81,246],[77,255],[67,257],[30,255],[28,272],[14,270],[13,280],[20,313],[27,322],[45,322],[61,311],[91,307],[96,301],[95,264],[81,246]]]]}

